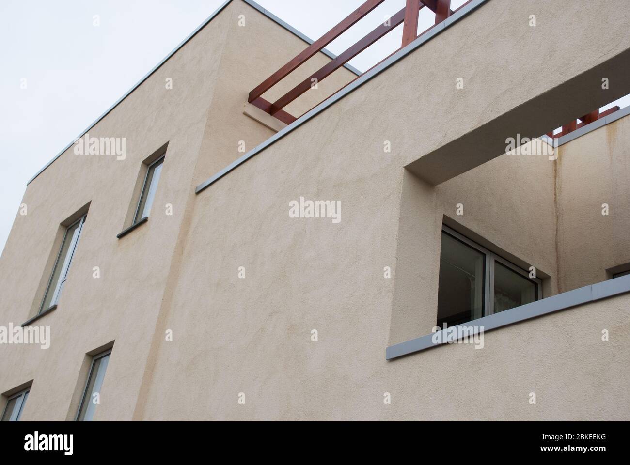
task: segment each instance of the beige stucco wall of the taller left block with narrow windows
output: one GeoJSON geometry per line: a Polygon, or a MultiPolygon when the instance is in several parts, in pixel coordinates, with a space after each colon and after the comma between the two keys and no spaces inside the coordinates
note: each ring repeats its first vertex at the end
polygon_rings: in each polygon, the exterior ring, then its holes
{"type": "MultiPolygon", "coordinates": [[[[113,340],[116,356],[103,386],[108,394],[95,419],[132,418],[161,306],[168,302],[169,280],[180,263],[197,163],[203,172],[222,167],[241,155],[239,140],[253,147],[273,134],[243,115],[244,96],[270,74],[269,67],[282,66],[304,47],[300,38],[234,1],[89,130],[91,137],[126,137],[124,160],[77,156],[71,147],[28,185],[23,198],[28,214],[16,215],[0,258],[3,326],[19,326],[33,316],[35,296],[48,277],[46,264],[56,253],[60,222],[91,204],[59,307],[34,323],[50,326],[50,348],[0,347],[0,392],[34,379],[23,420],[74,418],[85,354],[113,340]],[[244,28],[236,27],[239,14],[246,14],[244,28]],[[248,56],[255,57],[255,67],[248,56]],[[166,89],[167,77],[173,89],[166,89]],[[125,217],[142,160],[166,142],[151,218],[118,240],[116,235],[129,226],[125,217]],[[173,215],[165,214],[166,204],[173,205],[173,215]],[[100,268],[100,278],[93,278],[93,267],[100,268]]],[[[318,54],[311,66],[328,60],[318,54]]],[[[340,87],[353,76],[343,70],[331,76],[329,86],[340,87]]],[[[298,108],[306,111],[314,103],[306,98],[298,108]]]]}

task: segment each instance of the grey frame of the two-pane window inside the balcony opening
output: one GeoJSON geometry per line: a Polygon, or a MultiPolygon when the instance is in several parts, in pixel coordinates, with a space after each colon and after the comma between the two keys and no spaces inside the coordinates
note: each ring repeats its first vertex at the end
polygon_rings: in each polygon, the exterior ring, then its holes
{"type": "MultiPolygon", "coordinates": [[[[497,261],[501,263],[501,265],[509,268],[513,272],[520,274],[521,276],[527,278],[527,280],[529,280],[530,282],[533,282],[534,284],[536,284],[536,301],[539,301],[542,299],[542,280],[541,279],[530,278],[529,273],[526,272],[523,268],[520,268],[517,265],[514,265],[514,263],[512,263],[511,261],[505,260],[505,258],[503,258],[500,255],[496,255],[496,253],[491,252],[485,247],[467,238],[466,236],[462,236],[462,234],[457,233],[457,231],[455,231],[449,226],[446,226],[445,224],[442,224],[442,232],[448,234],[452,238],[457,239],[458,241],[466,244],[467,246],[473,248],[474,250],[479,251],[479,253],[483,253],[485,255],[483,316],[488,316],[495,313],[495,299],[494,299],[495,263],[497,261]]],[[[441,242],[442,242],[442,238],[440,236],[440,244],[441,242]]]]}

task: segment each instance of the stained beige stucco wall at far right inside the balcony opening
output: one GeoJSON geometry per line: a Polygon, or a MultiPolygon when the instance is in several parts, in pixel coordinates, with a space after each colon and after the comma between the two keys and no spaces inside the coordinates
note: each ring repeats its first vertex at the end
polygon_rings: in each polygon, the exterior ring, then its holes
{"type": "Polygon", "coordinates": [[[559,281],[563,291],[630,263],[630,117],[559,147],[559,281]],[[609,214],[602,215],[602,204],[609,214]]]}

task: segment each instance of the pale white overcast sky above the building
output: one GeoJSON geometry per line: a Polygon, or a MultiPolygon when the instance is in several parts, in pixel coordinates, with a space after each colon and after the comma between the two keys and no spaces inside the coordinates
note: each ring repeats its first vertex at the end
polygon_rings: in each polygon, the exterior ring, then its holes
{"type": "MultiPolygon", "coordinates": [[[[223,1],[0,0],[0,250],[26,182],[223,1]],[[95,14],[100,16],[98,27],[93,26],[95,14]],[[26,89],[20,88],[23,78],[26,89]]],[[[316,39],[363,1],[258,4],[316,39]]],[[[464,1],[452,0],[452,8],[464,1]]],[[[343,52],[404,3],[386,0],[327,48],[343,52]]],[[[432,23],[433,14],[424,8],[419,31],[432,23]]],[[[364,71],[398,49],[401,36],[399,27],[350,63],[364,71]]]]}

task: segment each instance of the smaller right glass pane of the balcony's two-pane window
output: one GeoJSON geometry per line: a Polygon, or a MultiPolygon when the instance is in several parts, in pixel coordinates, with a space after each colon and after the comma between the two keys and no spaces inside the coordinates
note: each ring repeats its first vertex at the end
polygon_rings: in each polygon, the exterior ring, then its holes
{"type": "Polygon", "coordinates": [[[495,261],[495,313],[536,301],[536,283],[495,261]]]}

